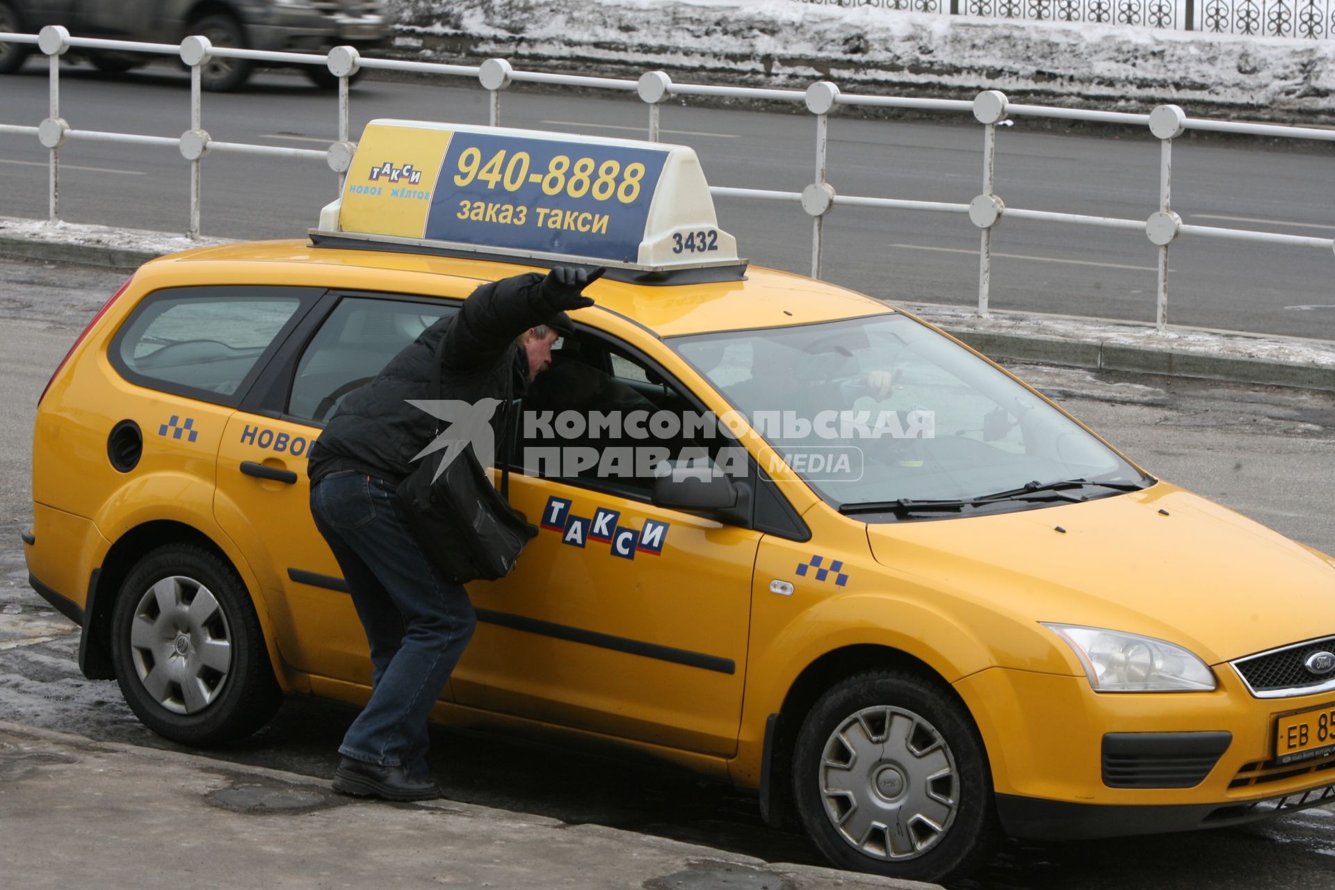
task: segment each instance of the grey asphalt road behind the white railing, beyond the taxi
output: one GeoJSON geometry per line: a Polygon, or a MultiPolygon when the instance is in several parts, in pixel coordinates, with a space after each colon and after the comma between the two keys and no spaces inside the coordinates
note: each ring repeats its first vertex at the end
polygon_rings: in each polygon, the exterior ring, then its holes
{"type": "MultiPolygon", "coordinates": [[[[487,121],[483,91],[363,80],[352,92],[352,135],[371,117],[487,121]]],[[[108,76],[72,65],[61,116],[79,129],[179,136],[190,123],[187,77],[170,67],[108,76]]],[[[0,123],[47,116],[44,68],[29,60],[0,89],[0,123]]],[[[641,137],[647,113],[633,97],[565,96],[513,87],[510,127],[641,137]]],[[[972,119],[971,119],[972,120],[972,119]]],[[[801,191],[813,177],[809,115],[668,105],[663,139],[693,145],[714,185],[801,191]]],[[[239,95],[204,96],[218,140],[323,148],[336,135],[332,95],[298,73],[264,73],[239,95]]],[[[830,125],[829,180],[844,195],[968,203],[981,191],[976,124],[869,121],[830,125]]],[[[1328,147],[1312,153],[1255,143],[1177,140],[1175,209],[1188,223],[1290,235],[1335,234],[1328,147]]],[[[0,135],[0,215],[45,217],[47,153],[32,136],[0,135]]],[[[175,148],[73,141],[61,149],[64,217],[184,231],[188,167],[175,148]]],[[[1001,128],[997,193],[1009,207],[1145,219],[1157,209],[1159,143],[1089,129],[1053,133],[1024,119],[1001,128]],[[1099,133],[1105,133],[1100,136],[1099,133]]],[[[204,232],[303,236],[336,180],[322,161],[212,155],[204,163],[204,232]]],[[[810,268],[810,219],[796,204],[720,199],[725,230],[762,266],[810,268]]],[[[961,215],[840,208],[828,217],[825,276],[892,300],[977,299],[979,232],[961,215]]],[[[1136,232],[1004,220],[993,239],[992,306],[1152,320],[1156,252],[1136,232]]],[[[1330,251],[1185,238],[1172,248],[1169,316],[1180,324],[1335,339],[1330,251]]]]}

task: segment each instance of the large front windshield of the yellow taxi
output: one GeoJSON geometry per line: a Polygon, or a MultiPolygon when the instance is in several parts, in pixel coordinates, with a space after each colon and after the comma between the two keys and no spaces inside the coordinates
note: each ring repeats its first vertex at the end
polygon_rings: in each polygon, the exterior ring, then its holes
{"type": "Polygon", "coordinates": [[[834,506],[1148,484],[1064,414],[904,315],[668,342],[834,506]]]}

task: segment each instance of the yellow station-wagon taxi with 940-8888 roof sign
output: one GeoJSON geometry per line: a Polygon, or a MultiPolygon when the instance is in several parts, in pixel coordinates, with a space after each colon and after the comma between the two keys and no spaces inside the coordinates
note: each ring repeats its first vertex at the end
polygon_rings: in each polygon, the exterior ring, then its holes
{"type": "Polygon", "coordinates": [[[748,268],[694,153],[629,140],[374,121],[310,240],[143,266],[36,420],[27,562],[84,674],[198,745],[284,693],[363,703],[311,443],[479,283],[557,263],[609,274],[523,400],[510,498],[541,531],[469,584],[437,718],[615,741],[920,879],[1001,831],[1335,799],[1331,558],[905,312],[748,268]],[[702,472],[638,459],[646,427],[702,472]]]}

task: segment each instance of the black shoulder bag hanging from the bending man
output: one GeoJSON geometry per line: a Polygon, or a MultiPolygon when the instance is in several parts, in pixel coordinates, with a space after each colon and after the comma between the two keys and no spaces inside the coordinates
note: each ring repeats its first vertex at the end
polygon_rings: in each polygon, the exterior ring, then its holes
{"type": "MultiPolygon", "coordinates": [[[[445,338],[433,358],[433,392],[441,399],[441,359],[445,338]]],[[[437,467],[445,451],[426,455],[413,472],[399,483],[395,498],[414,539],[427,559],[450,580],[495,580],[514,568],[525,544],[538,530],[525,522],[509,504],[510,494],[510,420],[513,415],[513,370],[507,368],[506,412],[502,424],[501,491],[487,478],[482,464],[467,446],[445,468],[437,467]]],[[[437,430],[439,432],[439,428],[437,430]]]]}

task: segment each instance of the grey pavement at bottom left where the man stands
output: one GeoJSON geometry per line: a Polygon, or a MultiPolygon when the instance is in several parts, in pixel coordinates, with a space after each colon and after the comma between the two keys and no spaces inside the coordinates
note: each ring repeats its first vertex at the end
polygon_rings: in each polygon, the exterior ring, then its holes
{"type": "Polygon", "coordinates": [[[8,887],[925,890],[597,825],[430,801],[0,722],[8,887]]]}

